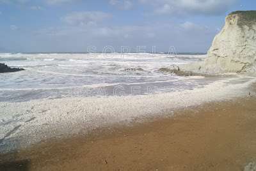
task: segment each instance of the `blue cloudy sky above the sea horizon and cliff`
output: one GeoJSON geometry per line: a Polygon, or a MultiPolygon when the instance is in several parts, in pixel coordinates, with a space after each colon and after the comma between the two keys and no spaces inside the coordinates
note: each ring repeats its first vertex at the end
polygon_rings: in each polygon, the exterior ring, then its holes
{"type": "Polygon", "coordinates": [[[0,0],[0,52],[207,52],[238,10],[256,10],[256,1],[0,0]]]}

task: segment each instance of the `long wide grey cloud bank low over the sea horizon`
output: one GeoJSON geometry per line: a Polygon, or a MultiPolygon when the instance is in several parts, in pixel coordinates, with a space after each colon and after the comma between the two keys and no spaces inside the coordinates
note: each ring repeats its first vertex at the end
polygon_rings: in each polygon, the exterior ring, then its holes
{"type": "Polygon", "coordinates": [[[38,41],[47,42],[47,45],[51,42],[52,47],[56,47],[55,44],[67,47],[60,47],[57,51],[86,51],[90,45],[96,46],[99,51],[106,45],[113,46],[116,51],[120,50],[120,46],[127,45],[136,51],[136,46],[143,45],[147,46],[148,51],[156,46],[157,50],[168,52],[170,46],[175,46],[178,52],[207,52],[217,33],[218,30],[212,26],[193,22],[178,24],[166,20],[155,22],[154,25],[143,22],[124,26],[49,27],[36,31],[35,36],[38,41]]]}

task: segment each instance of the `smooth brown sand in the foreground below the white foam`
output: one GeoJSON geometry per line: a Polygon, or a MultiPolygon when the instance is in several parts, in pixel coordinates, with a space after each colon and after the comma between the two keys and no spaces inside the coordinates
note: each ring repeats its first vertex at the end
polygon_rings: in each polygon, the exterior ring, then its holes
{"type": "Polygon", "coordinates": [[[256,97],[208,103],[4,154],[0,170],[243,170],[256,160],[256,97]]]}

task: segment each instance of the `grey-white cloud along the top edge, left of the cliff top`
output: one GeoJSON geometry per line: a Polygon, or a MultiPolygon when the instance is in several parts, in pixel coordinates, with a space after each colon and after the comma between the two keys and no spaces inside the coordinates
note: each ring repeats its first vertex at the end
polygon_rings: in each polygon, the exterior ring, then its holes
{"type": "Polygon", "coordinates": [[[152,6],[147,15],[222,15],[239,0],[140,0],[152,6]]]}

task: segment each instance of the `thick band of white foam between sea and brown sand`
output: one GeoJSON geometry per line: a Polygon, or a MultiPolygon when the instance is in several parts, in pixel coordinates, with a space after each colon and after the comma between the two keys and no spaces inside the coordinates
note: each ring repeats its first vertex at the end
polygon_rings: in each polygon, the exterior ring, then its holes
{"type": "Polygon", "coordinates": [[[246,96],[247,87],[253,82],[255,78],[237,77],[218,80],[204,88],[172,93],[1,102],[0,152],[101,126],[127,124],[136,118],[143,121],[147,117],[166,116],[179,108],[232,100],[246,96]]]}

